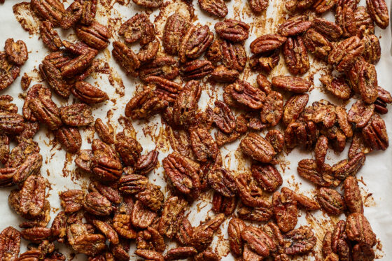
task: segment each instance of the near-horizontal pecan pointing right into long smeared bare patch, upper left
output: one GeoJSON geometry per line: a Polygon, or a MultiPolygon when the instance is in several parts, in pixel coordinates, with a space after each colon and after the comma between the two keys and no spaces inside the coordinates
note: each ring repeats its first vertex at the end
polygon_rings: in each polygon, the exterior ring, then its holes
{"type": "Polygon", "coordinates": [[[98,104],[109,99],[106,92],[83,81],[76,82],[71,92],[76,98],[87,104],[98,104]]]}

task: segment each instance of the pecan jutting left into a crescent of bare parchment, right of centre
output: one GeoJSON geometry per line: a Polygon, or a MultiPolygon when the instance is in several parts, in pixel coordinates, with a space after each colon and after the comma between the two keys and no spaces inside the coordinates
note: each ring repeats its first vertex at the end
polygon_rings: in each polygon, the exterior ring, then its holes
{"type": "Polygon", "coordinates": [[[298,162],[297,172],[302,178],[315,183],[316,185],[328,187],[335,185],[335,179],[332,177],[331,168],[324,164],[323,168],[317,167],[316,160],[301,160],[298,162]]]}

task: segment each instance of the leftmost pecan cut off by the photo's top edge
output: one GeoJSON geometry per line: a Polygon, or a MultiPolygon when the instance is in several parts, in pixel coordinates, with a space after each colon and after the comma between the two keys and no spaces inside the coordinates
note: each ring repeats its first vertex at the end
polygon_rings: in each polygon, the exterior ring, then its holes
{"type": "Polygon", "coordinates": [[[57,0],[33,0],[30,7],[38,17],[48,20],[55,27],[60,24],[65,13],[63,3],[57,0]]]}

